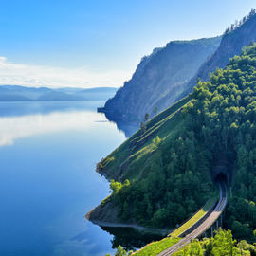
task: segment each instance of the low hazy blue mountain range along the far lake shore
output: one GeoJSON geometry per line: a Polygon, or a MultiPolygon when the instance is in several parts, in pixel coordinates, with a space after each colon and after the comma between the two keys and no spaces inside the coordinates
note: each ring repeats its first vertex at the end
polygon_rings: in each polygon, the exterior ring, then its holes
{"type": "Polygon", "coordinates": [[[106,101],[113,97],[117,88],[58,88],[1,85],[0,101],[106,101]]]}

